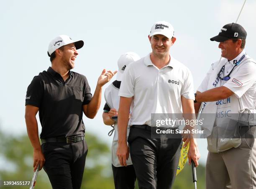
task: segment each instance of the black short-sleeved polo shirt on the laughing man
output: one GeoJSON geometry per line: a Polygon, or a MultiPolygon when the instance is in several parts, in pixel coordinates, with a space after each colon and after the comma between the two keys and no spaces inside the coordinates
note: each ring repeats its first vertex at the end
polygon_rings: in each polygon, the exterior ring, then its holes
{"type": "Polygon", "coordinates": [[[26,95],[26,105],[39,107],[40,138],[84,136],[82,106],[91,100],[84,75],[69,71],[64,82],[51,67],[33,78],[26,95]]]}

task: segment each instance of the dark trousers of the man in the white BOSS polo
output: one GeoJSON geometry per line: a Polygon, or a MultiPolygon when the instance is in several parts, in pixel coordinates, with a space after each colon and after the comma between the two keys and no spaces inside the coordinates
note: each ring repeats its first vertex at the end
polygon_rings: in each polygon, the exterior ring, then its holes
{"type": "Polygon", "coordinates": [[[171,189],[179,163],[181,135],[177,134],[179,138],[160,135],[160,138],[151,139],[149,126],[133,126],[128,142],[139,188],[171,189]]]}

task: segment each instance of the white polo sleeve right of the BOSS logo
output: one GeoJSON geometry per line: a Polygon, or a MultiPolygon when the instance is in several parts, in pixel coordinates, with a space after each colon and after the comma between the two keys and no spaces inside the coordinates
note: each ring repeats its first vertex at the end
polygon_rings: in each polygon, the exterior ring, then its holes
{"type": "Polygon", "coordinates": [[[195,100],[193,78],[189,69],[187,69],[187,77],[184,78],[181,95],[187,99],[195,100]]]}

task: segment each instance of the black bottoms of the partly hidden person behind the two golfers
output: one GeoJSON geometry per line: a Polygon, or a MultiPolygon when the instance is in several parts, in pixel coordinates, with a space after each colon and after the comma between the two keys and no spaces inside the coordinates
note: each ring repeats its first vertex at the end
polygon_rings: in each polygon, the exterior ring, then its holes
{"type": "Polygon", "coordinates": [[[133,165],[115,167],[112,165],[115,189],[134,189],[136,175],[133,165]]]}

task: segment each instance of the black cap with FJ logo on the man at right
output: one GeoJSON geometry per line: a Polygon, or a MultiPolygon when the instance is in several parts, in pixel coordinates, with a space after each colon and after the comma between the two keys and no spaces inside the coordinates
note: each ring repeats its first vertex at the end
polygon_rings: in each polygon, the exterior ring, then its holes
{"type": "Polygon", "coordinates": [[[210,38],[211,41],[222,42],[228,39],[246,39],[245,29],[237,23],[229,23],[220,29],[218,36],[210,38]]]}

